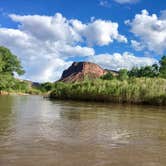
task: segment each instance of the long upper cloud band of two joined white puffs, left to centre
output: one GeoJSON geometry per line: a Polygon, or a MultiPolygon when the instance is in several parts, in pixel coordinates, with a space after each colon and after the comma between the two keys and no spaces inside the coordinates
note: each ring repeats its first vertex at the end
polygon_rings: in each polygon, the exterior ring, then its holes
{"type": "Polygon", "coordinates": [[[84,24],[77,19],[68,20],[60,13],[53,17],[11,14],[10,18],[21,23],[19,26],[21,31],[44,41],[73,43],[83,42],[83,38],[85,38],[88,44],[100,46],[108,45],[113,40],[127,42],[127,39],[118,32],[118,23],[111,21],[93,20],[84,24]],[[39,28],[39,30],[36,30],[36,28],[39,28]]]}

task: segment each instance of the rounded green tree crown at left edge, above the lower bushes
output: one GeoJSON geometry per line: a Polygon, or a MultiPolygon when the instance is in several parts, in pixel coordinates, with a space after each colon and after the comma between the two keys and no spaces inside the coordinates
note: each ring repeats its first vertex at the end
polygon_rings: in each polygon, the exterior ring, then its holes
{"type": "Polygon", "coordinates": [[[9,49],[0,46],[0,74],[4,73],[22,75],[24,70],[17,56],[13,55],[9,49]]]}

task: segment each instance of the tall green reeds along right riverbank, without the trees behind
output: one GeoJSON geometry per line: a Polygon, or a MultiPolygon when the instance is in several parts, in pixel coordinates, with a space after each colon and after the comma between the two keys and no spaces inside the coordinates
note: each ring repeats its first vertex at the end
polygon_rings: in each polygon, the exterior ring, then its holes
{"type": "Polygon", "coordinates": [[[166,105],[166,79],[130,78],[120,80],[84,81],[78,83],[56,83],[50,93],[54,99],[106,101],[166,105]]]}

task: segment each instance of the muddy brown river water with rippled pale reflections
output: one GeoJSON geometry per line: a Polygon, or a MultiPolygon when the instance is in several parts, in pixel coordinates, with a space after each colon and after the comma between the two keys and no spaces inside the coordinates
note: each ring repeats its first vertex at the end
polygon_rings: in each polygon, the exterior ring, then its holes
{"type": "Polygon", "coordinates": [[[0,96],[0,166],[165,166],[166,109],[0,96]]]}

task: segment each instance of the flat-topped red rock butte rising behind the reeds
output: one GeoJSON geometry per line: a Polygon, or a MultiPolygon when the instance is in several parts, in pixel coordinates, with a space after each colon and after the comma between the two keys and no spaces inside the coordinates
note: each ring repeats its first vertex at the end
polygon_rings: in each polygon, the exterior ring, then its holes
{"type": "Polygon", "coordinates": [[[76,82],[85,78],[95,79],[106,74],[108,71],[102,69],[97,64],[91,62],[73,62],[73,64],[63,72],[59,81],[76,82]]]}

